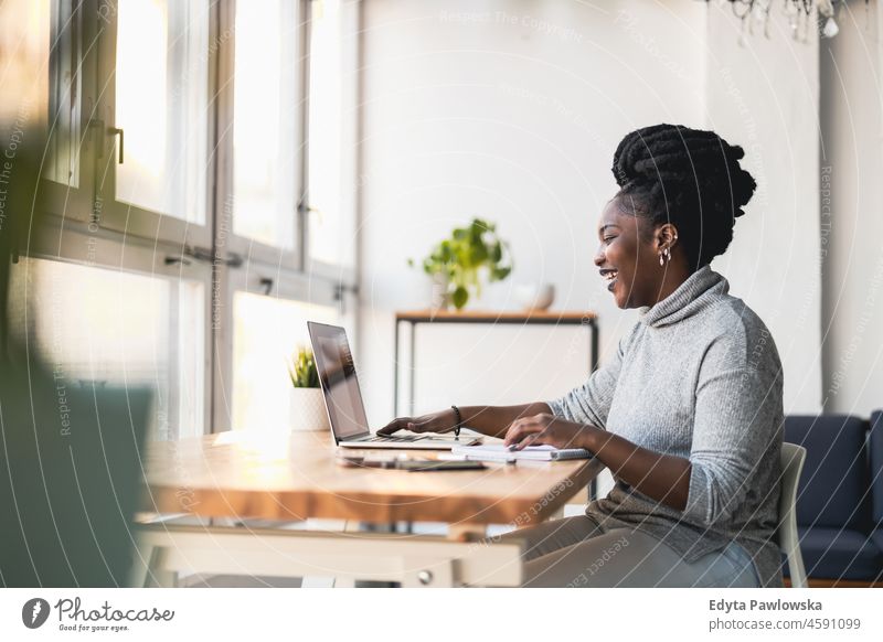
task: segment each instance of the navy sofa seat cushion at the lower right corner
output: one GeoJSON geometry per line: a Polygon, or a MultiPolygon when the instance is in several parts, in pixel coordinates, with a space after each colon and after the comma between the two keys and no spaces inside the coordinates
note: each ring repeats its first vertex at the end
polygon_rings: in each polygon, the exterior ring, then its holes
{"type": "Polygon", "coordinates": [[[820,526],[798,532],[807,577],[857,580],[883,577],[883,548],[872,536],[820,526]]]}

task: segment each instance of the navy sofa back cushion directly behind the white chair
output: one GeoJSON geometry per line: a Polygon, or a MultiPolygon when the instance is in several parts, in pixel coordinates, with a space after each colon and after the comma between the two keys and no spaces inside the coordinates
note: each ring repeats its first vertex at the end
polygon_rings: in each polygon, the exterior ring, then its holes
{"type": "Polygon", "coordinates": [[[847,415],[785,418],[785,441],[807,449],[797,489],[799,525],[870,527],[866,432],[866,421],[847,415]]]}

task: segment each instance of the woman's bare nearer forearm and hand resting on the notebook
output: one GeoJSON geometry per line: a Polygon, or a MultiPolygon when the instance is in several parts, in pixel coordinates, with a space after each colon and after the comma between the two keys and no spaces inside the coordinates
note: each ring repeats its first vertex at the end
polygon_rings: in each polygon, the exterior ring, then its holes
{"type": "Polygon", "coordinates": [[[549,414],[515,420],[506,445],[521,450],[531,443],[585,448],[617,478],[658,502],[683,511],[690,494],[690,460],[660,454],[595,426],[566,421],[549,414]]]}

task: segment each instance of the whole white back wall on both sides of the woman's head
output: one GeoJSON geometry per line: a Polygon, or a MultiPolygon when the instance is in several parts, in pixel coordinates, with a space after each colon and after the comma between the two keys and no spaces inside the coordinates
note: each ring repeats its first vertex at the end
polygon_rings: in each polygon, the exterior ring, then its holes
{"type": "MultiPolygon", "coordinates": [[[[497,221],[517,259],[513,278],[474,307],[514,309],[515,283],[552,282],[555,308],[600,314],[604,359],[635,318],[592,264],[613,152],[629,130],[662,121],[745,148],[759,189],[714,267],[770,328],[786,411],[821,408],[818,36],[792,40],[778,6],[769,39],[740,44],[740,29],[728,3],[692,0],[366,0],[359,359],[373,424],[392,413],[393,312],[428,298],[405,260],[472,215],[497,221]]],[[[876,257],[850,269],[872,271],[876,257]]],[[[850,286],[858,319],[866,296],[850,286]]],[[[837,318],[829,359],[849,350],[858,322],[837,318]]],[[[523,333],[445,332],[418,342],[418,411],[547,398],[585,376],[577,334],[536,346],[523,333]],[[567,350],[576,356],[554,361],[567,350]]]]}

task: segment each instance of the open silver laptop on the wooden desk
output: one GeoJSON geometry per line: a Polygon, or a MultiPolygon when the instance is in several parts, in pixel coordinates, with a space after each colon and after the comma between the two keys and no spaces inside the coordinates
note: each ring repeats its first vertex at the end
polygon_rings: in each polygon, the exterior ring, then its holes
{"type": "Polygon", "coordinates": [[[372,435],[368,428],[368,417],[362,403],[362,392],[355,375],[347,332],[337,325],[307,322],[316,357],[316,370],[322,386],[325,407],[334,441],[341,448],[387,448],[450,450],[455,446],[469,446],[478,440],[460,435],[438,435],[432,432],[408,432],[400,430],[395,435],[372,435]]]}

